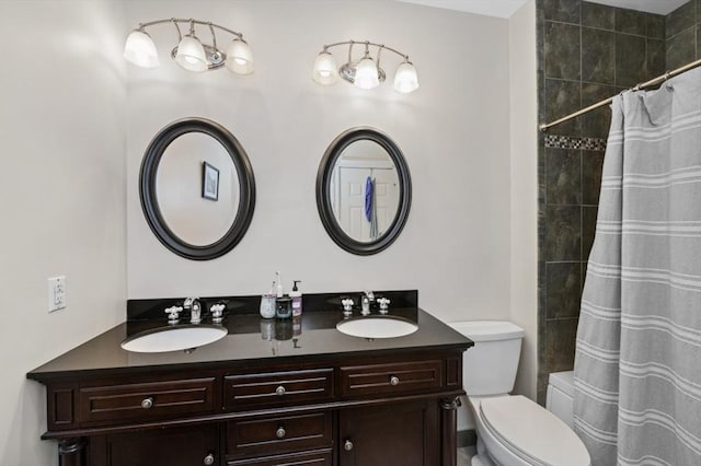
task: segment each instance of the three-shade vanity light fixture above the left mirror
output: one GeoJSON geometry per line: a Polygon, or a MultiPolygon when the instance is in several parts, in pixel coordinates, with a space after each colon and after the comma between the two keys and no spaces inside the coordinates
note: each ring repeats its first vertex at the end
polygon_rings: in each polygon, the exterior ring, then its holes
{"type": "Polygon", "coordinates": [[[158,67],[158,50],[153,39],[146,32],[146,28],[157,24],[168,23],[173,24],[177,31],[177,45],[171,50],[171,58],[184,70],[202,72],[216,70],[226,65],[227,69],[235,74],[251,74],[253,72],[253,54],[241,33],[208,21],[193,19],[171,18],[170,20],[140,23],[127,37],[124,46],[124,58],[137,67],[158,67]],[[183,35],[180,24],[187,24],[189,26],[187,34],[183,35]],[[195,25],[209,28],[211,44],[205,44],[197,37],[195,34],[195,25]],[[217,46],[215,28],[233,35],[233,39],[229,44],[226,53],[217,46]]]}

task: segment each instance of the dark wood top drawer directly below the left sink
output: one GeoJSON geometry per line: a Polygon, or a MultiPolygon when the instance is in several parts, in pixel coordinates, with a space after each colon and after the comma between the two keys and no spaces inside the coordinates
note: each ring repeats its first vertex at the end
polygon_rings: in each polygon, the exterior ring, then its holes
{"type": "Polygon", "coordinates": [[[215,377],[82,387],[81,422],[153,420],[214,409],[215,377]]]}

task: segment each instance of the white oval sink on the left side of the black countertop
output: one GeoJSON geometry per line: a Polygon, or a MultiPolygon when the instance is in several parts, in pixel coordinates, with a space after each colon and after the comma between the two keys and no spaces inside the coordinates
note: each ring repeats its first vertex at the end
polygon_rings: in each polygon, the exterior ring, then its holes
{"type": "Polygon", "coordinates": [[[133,352],[180,351],[214,343],[227,334],[226,328],[211,325],[165,327],[129,337],[122,341],[122,348],[133,352]]]}

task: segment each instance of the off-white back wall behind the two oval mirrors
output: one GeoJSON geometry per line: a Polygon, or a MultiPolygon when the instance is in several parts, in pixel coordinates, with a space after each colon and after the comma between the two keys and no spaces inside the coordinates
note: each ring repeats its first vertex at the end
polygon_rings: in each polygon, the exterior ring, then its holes
{"type": "MultiPolygon", "coordinates": [[[[128,295],[255,294],[280,270],[286,288],[420,290],[423,307],[445,321],[509,317],[508,22],[378,1],[127,2],[133,24],[162,18],[210,20],[240,31],[256,72],[192,74],[161,54],[161,68],[129,67],[127,141],[128,295]],[[384,43],[410,55],[420,90],[391,83],[360,91],[320,88],[311,68],[323,44],[384,43]],[[203,116],[241,141],[257,186],[255,214],[241,243],[211,261],[166,251],[141,212],[138,175],[152,136],[170,121],[203,116]],[[314,198],[319,162],[343,130],[367,125],[402,149],[413,180],[409,222],[384,252],[359,257],[326,235],[314,198]]],[[[172,26],[152,28],[170,49],[172,26]]],[[[208,37],[202,33],[204,38],[208,37]]],[[[219,39],[220,42],[222,38],[219,39]]],[[[345,51],[337,54],[342,62],[345,51]]],[[[399,61],[382,63],[390,77],[399,61]]]]}

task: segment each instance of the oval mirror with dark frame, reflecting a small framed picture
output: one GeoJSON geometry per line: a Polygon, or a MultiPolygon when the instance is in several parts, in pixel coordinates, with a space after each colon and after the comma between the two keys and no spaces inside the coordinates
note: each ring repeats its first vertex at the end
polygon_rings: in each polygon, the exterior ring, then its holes
{"type": "Polygon", "coordinates": [[[193,260],[227,254],[243,237],[255,206],[251,162],[223,126],[184,118],[149,143],[139,195],[156,237],[193,260]]]}

